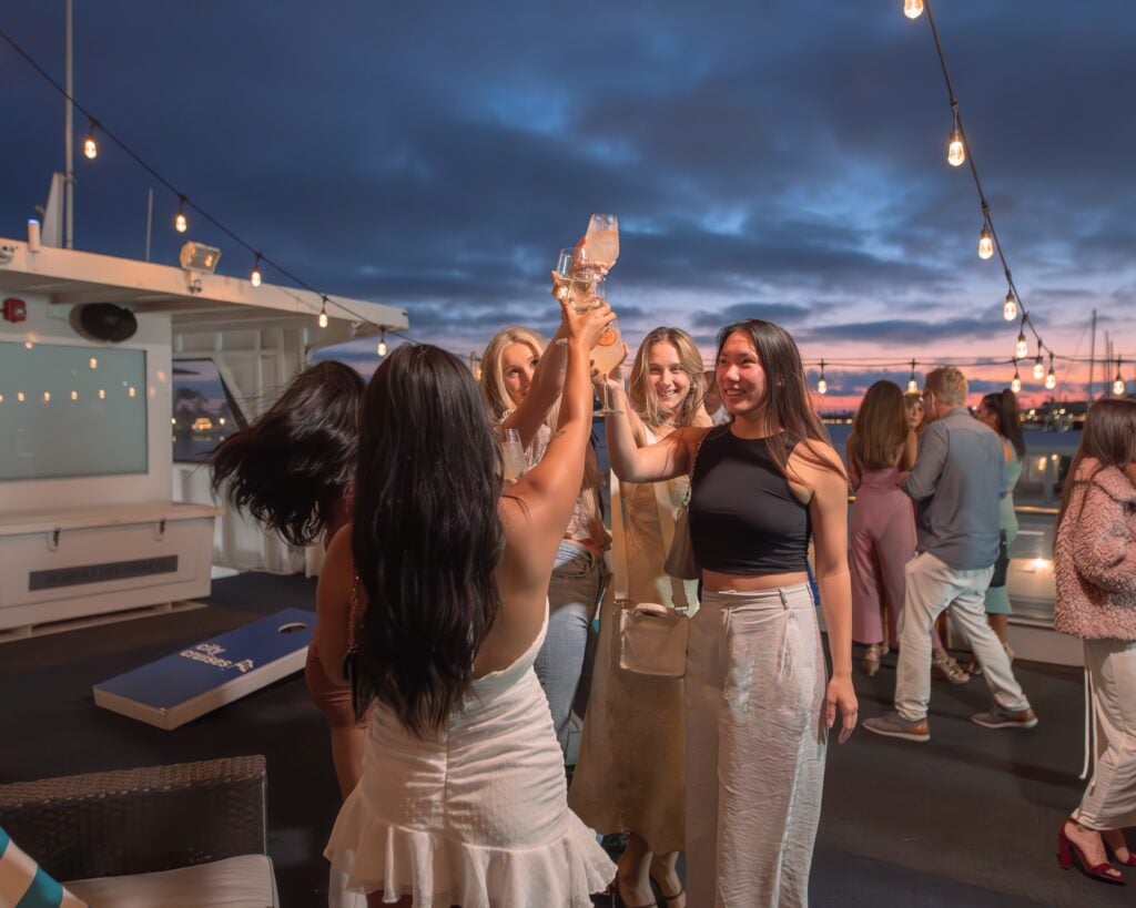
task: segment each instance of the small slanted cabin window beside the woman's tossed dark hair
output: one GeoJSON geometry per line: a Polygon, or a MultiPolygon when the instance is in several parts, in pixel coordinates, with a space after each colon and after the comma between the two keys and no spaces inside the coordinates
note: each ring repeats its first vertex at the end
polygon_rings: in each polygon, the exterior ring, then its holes
{"type": "Polygon", "coordinates": [[[212,360],[174,361],[174,461],[202,463],[245,424],[212,360]]]}

